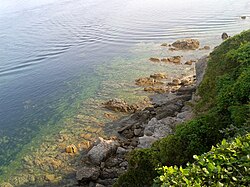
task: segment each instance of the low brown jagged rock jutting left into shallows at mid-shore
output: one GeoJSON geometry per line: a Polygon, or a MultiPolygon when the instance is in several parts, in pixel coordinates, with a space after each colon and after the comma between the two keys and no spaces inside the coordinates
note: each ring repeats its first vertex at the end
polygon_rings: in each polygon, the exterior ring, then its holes
{"type": "Polygon", "coordinates": [[[118,111],[118,112],[135,112],[138,108],[137,105],[129,105],[123,99],[110,99],[106,103],[104,103],[105,108],[118,111]]]}

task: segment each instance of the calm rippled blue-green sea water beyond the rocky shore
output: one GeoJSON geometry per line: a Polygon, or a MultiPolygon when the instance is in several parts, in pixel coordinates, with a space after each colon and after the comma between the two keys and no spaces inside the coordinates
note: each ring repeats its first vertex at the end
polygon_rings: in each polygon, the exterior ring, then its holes
{"type": "Polygon", "coordinates": [[[39,146],[40,136],[53,137],[79,110],[90,115],[90,98],[114,89],[126,97],[117,82],[146,76],[143,62],[167,55],[160,43],[192,37],[217,45],[222,32],[249,29],[241,15],[250,16],[248,0],[0,0],[0,165],[15,163],[34,139],[39,146]]]}

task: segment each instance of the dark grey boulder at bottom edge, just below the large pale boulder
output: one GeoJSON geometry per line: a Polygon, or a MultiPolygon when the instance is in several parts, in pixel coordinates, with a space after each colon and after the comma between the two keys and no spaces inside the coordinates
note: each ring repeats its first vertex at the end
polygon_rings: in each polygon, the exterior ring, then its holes
{"type": "Polygon", "coordinates": [[[95,181],[100,176],[100,168],[84,166],[76,172],[76,179],[81,182],[95,181]]]}

